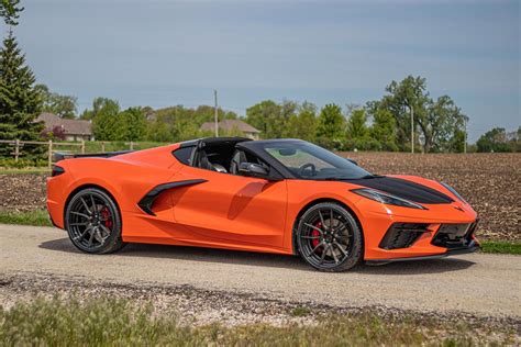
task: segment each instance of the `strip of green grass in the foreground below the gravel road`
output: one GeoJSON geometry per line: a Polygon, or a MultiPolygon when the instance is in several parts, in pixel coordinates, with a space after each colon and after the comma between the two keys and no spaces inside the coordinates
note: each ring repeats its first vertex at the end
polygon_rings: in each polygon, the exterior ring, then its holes
{"type": "Polygon", "coordinates": [[[104,296],[36,299],[0,309],[1,346],[456,346],[487,344],[490,338],[492,344],[513,344],[511,327],[491,331],[463,320],[383,318],[375,313],[329,315],[312,325],[193,326],[179,324],[174,312],[154,312],[151,303],[104,296]]]}

